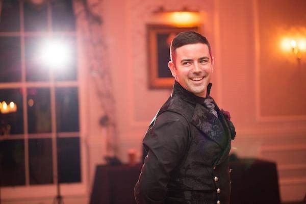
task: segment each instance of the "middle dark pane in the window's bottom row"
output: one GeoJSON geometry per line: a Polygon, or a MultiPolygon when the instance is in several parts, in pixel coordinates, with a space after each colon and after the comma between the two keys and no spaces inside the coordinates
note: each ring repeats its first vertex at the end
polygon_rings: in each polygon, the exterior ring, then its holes
{"type": "Polygon", "coordinates": [[[29,139],[30,184],[53,183],[52,139],[29,139]]]}

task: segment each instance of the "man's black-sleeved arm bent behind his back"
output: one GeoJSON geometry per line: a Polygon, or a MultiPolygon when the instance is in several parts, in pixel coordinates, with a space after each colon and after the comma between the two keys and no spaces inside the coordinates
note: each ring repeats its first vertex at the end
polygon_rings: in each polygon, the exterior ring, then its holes
{"type": "Polygon", "coordinates": [[[164,112],[143,139],[148,151],[134,189],[138,204],[164,203],[170,172],[179,165],[188,145],[189,127],[180,114],[164,112]]]}

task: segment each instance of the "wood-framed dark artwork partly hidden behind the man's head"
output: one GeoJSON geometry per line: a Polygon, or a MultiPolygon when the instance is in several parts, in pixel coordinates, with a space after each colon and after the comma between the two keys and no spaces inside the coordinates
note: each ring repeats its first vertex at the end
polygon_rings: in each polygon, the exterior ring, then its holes
{"type": "Polygon", "coordinates": [[[199,32],[199,27],[172,27],[171,25],[147,25],[147,54],[149,88],[172,88],[174,78],[168,68],[172,39],[184,31],[199,32]]]}

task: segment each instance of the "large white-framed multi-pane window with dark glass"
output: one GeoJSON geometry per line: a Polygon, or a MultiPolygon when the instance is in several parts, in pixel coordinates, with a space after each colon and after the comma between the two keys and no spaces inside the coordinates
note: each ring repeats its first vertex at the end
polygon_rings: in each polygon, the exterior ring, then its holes
{"type": "Polygon", "coordinates": [[[72,3],[4,0],[0,14],[0,186],[80,183],[72,3]],[[66,46],[64,64],[54,64],[59,55],[46,63],[46,42],[66,46]]]}

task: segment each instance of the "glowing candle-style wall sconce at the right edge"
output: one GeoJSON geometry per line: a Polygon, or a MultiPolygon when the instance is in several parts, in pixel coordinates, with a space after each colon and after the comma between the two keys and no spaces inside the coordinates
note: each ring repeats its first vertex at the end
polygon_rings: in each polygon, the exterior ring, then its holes
{"type": "Polygon", "coordinates": [[[302,55],[306,53],[306,39],[285,38],[282,41],[282,48],[286,52],[292,52],[296,59],[300,61],[302,59],[302,55]]]}

